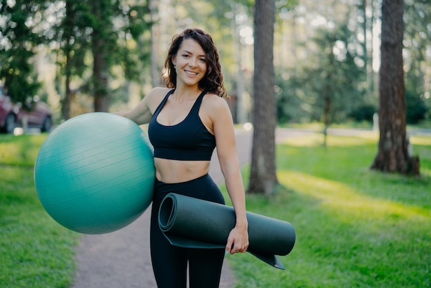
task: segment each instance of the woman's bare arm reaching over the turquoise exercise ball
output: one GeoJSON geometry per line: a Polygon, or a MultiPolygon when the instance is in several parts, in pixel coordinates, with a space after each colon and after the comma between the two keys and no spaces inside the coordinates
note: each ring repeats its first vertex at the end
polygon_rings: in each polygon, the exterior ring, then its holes
{"type": "Polygon", "coordinates": [[[152,89],[132,110],[114,112],[114,114],[130,119],[138,125],[149,123],[154,110],[156,110],[156,107],[160,104],[158,99],[161,98],[158,97],[158,95],[160,95],[160,90],[162,89],[165,88],[152,89]]]}

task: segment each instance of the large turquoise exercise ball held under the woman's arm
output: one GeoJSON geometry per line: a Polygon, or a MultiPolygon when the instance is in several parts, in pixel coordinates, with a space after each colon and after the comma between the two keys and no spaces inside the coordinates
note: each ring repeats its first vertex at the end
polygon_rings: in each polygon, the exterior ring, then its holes
{"type": "Polygon", "coordinates": [[[154,187],[153,149],[136,123],[92,112],[56,127],[34,164],[36,193],[56,222],[83,234],[105,234],[136,220],[154,187]]]}

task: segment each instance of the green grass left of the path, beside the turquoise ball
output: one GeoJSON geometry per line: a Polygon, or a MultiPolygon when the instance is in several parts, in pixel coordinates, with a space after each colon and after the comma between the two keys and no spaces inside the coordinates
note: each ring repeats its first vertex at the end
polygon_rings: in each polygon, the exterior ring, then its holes
{"type": "Polygon", "coordinates": [[[46,135],[0,135],[0,287],[68,287],[77,236],[36,196],[33,165],[46,135]]]}

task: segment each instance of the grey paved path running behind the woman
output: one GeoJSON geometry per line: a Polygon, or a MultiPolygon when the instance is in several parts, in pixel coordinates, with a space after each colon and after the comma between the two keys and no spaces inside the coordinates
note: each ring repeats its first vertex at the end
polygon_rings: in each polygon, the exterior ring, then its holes
{"type": "MultiPolygon", "coordinates": [[[[238,157],[241,165],[249,163],[251,133],[237,132],[238,157]]],[[[209,174],[222,184],[216,152],[209,174]]],[[[151,207],[131,225],[116,232],[84,235],[76,248],[78,270],[72,288],[153,288],[156,287],[149,256],[149,217],[151,207]]],[[[221,288],[231,288],[235,278],[225,261],[221,288]]]]}

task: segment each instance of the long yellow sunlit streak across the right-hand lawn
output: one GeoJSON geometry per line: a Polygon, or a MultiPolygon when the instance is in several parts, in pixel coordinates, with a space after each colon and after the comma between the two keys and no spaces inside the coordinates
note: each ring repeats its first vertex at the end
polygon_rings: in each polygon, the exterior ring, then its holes
{"type": "MultiPolygon", "coordinates": [[[[365,196],[351,187],[295,171],[280,171],[277,174],[286,187],[297,193],[321,200],[321,205],[341,218],[346,215],[364,219],[406,218],[407,220],[430,221],[428,211],[410,205],[401,205],[389,200],[365,196]]],[[[348,217],[346,218],[348,219],[348,217]]]]}

